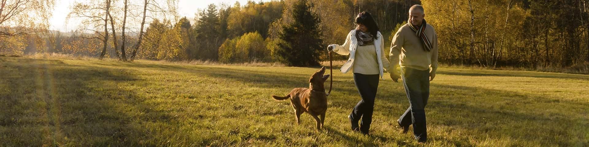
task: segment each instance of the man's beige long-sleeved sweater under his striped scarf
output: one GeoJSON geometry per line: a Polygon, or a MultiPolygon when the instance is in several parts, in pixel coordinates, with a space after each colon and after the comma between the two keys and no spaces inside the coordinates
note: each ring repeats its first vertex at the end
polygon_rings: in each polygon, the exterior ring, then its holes
{"type": "Polygon", "coordinates": [[[399,64],[401,67],[422,71],[431,68],[431,73],[436,72],[438,68],[438,36],[434,27],[429,24],[426,27],[428,28],[425,29],[425,35],[428,36],[432,44],[430,52],[423,49],[421,39],[415,35],[415,31],[409,28],[408,24],[399,28],[391,42],[391,54],[389,55],[389,69],[391,71],[395,70],[396,65],[399,64]]]}

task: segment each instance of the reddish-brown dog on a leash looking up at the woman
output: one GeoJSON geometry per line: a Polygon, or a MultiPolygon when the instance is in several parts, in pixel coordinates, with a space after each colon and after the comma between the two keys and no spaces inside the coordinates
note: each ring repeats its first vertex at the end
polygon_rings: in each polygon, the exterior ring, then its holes
{"type": "Polygon", "coordinates": [[[303,112],[309,113],[317,122],[317,129],[323,128],[323,121],[325,121],[325,111],[327,110],[327,95],[323,82],[329,78],[329,74],[325,74],[325,67],[315,72],[309,79],[309,88],[294,88],[286,96],[272,95],[276,100],[284,100],[290,98],[290,104],[293,105],[296,122],[300,125],[300,115],[303,112]],[[321,119],[319,116],[321,115],[321,119]]]}

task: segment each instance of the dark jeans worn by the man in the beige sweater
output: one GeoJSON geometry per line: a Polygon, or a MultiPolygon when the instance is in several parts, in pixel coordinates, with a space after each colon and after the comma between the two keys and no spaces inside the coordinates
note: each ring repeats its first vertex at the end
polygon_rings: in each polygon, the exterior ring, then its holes
{"type": "Polygon", "coordinates": [[[413,135],[419,142],[428,139],[425,123],[425,105],[429,98],[429,70],[401,68],[403,85],[409,99],[409,108],[399,118],[401,125],[413,124],[413,135]]]}

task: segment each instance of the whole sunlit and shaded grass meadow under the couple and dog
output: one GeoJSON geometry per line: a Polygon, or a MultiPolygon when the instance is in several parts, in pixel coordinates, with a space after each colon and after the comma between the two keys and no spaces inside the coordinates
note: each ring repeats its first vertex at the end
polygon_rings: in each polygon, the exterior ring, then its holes
{"type": "MultiPolygon", "coordinates": [[[[325,129],[289,101],[317,68],[0,57],[0,146],[419,146],[395,120],[401,83],[380,81],[371,136],[335,70],[325,129]]],[[[385,76],[388,76],[386,74],[385,76]]],[[[589,75],[439,69],[426,146],[588,146],[589,75]]]]}

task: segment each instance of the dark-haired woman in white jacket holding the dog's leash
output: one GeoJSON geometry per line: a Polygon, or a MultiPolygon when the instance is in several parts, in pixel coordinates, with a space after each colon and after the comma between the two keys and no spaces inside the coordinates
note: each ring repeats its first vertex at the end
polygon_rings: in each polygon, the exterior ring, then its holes
{"type": "Polygon", "coordinates": [[[355,24],[356,29],[350,31],[343,45],[329,45],[327,51],[350,55],[340,71],[347,73],[352,69],[354,83],[362,100],[356,104],[348,118],[353,131],[368,135],[379,76],[382,78],[383,72],[389,68],[389,61],[383,54],[384,40],[372,15],[368,12],[358,14],[355,24]],[[360,118],[362,122],[358,125],[360,118]]]}

